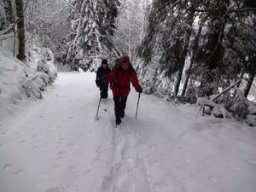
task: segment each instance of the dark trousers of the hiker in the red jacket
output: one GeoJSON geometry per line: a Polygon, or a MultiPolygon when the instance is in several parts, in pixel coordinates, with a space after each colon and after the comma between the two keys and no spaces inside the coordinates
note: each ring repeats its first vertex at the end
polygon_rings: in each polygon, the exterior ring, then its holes
{"type": "Polygon", "coordinates": [[[116,119],[123,118],[125,115],[127,96],[113,96],[114,114],[116,119]]]}

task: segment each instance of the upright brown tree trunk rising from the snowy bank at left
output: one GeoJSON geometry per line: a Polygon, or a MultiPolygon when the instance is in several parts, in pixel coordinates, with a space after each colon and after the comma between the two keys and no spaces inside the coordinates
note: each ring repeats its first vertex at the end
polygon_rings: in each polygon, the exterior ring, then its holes
{"type": "Polygon", "coordinates": [[[23,0],[15,0],[16,12],[18,17],[17,28],[18,28],[18,38],[19,38],[19,53],[17,58],[20,61],[25,60],[25,25],[24,25],[24,10],[23,10],[23,0]]]}

